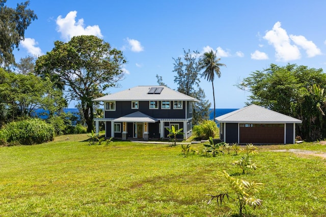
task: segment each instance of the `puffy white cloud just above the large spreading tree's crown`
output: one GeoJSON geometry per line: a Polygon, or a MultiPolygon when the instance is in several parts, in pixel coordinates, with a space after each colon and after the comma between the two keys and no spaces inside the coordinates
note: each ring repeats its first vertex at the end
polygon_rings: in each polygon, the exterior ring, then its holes
{"type": "Polygon", "coordinates": [[[61,37],[69,41],[74,36],[97,36],[102,38],[101,30],[98,25],[84,27],[84,19],[76,22],[77,11],[70,11],[65,18],[60,15],[57,18],[57,30],[61,33],[61,37]]]}

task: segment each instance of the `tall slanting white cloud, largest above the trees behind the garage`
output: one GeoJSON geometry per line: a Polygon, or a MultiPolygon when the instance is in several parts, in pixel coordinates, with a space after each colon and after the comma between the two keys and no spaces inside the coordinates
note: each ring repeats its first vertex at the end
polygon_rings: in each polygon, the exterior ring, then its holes
{"type": "Polygon", "coordinates": [[[281,28],[281,22],[276,22],[272,30],[266,32],[263,39],[275,48],[275,56],[279,61],[300,59],[300,50],[296,45],[291,45],[286,30],[281,28]]]}

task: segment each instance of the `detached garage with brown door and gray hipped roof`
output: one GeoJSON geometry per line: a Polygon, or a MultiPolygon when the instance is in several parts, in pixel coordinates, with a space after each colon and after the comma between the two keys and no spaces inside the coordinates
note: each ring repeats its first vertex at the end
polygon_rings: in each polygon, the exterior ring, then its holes
{"type": "Polygon", "coordinates": [[[293,144],[295,123],[301,120],[250,105],[215,118],[220,138],[227,143],[293,144]]]}

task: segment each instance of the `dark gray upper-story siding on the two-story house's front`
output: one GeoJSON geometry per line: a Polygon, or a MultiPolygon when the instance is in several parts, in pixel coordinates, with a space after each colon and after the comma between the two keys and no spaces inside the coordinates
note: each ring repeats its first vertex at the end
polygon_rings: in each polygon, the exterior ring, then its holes
{"type": "MultiPolygon", "coordinates": [[[[173,109],[173,101],[171,101],[171,109],[161,109],[161,101],[158,101],[158,109],[149,109],[149,101],[139,101],[139,109],[131,109],[131,101],[116,102],[115,111],[106,111],[106,118],[118,118],[124,115],[140,111],[154,118],[185,118],[185,103],[182,109],[173,109]]],[[[189,102],[188,102],[189,103],[189,102]]],[[[189,116],[188,116],[189,117],[189,116]]]]}

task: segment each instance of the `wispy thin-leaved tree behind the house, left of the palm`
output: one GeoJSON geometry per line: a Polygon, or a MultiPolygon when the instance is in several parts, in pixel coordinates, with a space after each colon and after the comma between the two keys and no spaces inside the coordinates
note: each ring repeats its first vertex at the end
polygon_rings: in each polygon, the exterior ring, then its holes
{"type": "Polygon", "coordinates": [[[199,59],[198,51],[191,52],[183,49],[183,58],[174,59],[174,82],[178,84],[178,91],[182,94],[198,99],[200,102],[193,106],[193,125],[198,124],[203,119],[209,119],[210,103],[205,100],[205,92],[199,86],[199,59]],[[208,115],[207,115],[208,114],[208,115]]]}

